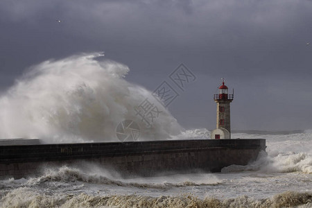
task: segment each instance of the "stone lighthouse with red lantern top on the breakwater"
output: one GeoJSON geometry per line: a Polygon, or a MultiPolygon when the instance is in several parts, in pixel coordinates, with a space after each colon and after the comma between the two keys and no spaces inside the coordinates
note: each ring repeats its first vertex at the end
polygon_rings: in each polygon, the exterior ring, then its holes
{"type": "Polygon", "coordinates": [[[218,94],[214,94],[214,101],[217,103],[216,129],[211,132],[211,139],[231,139],[231,115],[229,103],[233,101],[233,94],[228,93],[229,89],[224,84],[218,87],[218,94]]]}

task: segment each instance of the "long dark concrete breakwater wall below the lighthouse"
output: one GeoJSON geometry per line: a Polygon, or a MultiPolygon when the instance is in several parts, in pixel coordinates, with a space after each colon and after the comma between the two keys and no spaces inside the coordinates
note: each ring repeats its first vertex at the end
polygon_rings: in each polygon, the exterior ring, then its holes
{"type": "Polygon", "coordinates": [[[0,146],[0,178],[40,173],[45,165],[94,162],[134,177],[157,173],[217,172],[246,165],[266,150],[266,139],[196,139],[0,146]]]}

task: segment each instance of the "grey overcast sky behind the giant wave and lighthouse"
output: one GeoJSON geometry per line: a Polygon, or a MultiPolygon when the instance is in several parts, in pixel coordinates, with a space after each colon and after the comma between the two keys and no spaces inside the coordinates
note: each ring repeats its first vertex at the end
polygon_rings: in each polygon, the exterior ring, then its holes
{"type": "Polygon", "coordinates": [[[0,1],[2,92],[33,64],[94,51],[151,91],[184,63],[197,78],[168,109],[185,128],[216,127],[225,78],[232,129],[312,129],[312,1],[0,1]]]}

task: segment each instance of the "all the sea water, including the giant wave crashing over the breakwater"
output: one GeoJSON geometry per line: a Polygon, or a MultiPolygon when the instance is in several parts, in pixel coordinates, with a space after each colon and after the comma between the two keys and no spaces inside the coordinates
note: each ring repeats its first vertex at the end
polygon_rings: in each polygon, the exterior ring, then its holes
{"type": "MultiPolygon", "coordinates": [[[[0,138],[43,143],[118,141],[116,126],[144,126],[135,107],[157,103],[144,87],[128,83],[129,69],[101,53],[37,64],[0,95],[0,138]],[[19,119],[16,119],[19,118],[19,119]],[[111,140],[104,140],[111,139],[111,140]]],[[[159,104],[159,103],[158,103],[159,104]]],[[[183,130],[162,105],[140,139],[209,139],[206,129],[183,130]]],[[[0,207],[312,207],[312,130],[264,138],[268,154],[221,173],[179,173],[124,179],[97,164],[42,167],[36,177],[0,180],[0,207]]]]}

